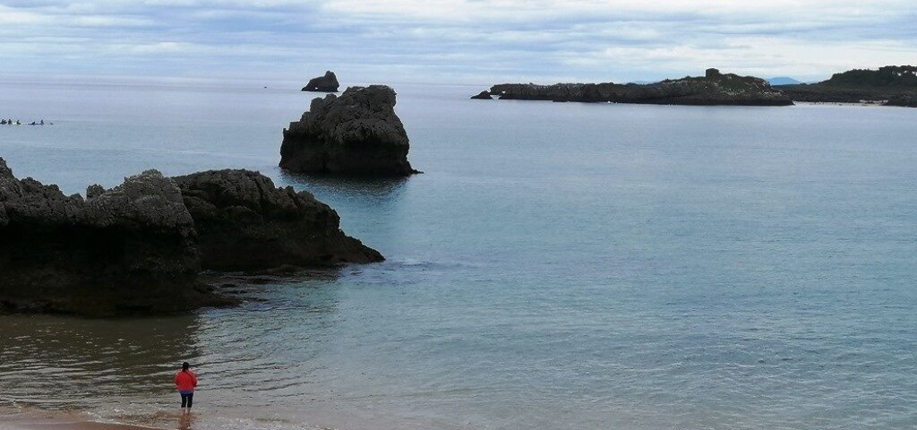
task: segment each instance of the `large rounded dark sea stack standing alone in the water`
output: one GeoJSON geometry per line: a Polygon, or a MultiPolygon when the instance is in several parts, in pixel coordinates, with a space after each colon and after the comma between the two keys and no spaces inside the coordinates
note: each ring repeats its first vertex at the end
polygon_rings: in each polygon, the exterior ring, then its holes
{"type": "Polygon", "coordinates": [[[350,87],[312,101],[283,130],[283,169],[300,173],[406,176],[407,133],[395,115],[395,92],[385,85],[350,87]]]}

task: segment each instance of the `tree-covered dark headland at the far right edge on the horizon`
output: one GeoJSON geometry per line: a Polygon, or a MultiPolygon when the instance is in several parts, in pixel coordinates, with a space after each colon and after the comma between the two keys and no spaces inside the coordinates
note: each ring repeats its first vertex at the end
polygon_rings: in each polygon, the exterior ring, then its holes
{"type": "Polygon", "coordinates": [[[861,103],[917,107],[917,66],[885,66],[834,73],[821,83],[775,87],[798,102],[861,103]]]}

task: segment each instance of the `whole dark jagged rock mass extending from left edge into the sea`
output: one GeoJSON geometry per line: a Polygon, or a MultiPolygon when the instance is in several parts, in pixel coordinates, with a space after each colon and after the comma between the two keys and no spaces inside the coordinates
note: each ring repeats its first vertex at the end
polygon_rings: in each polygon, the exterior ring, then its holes
{"type": "Polygon", "coordinates": [[[0,311],[155,314],[230,304],[201,270],[379,261],[309,193],[254,171],[145,171],[86,197],[0,159],[0,311]]]}

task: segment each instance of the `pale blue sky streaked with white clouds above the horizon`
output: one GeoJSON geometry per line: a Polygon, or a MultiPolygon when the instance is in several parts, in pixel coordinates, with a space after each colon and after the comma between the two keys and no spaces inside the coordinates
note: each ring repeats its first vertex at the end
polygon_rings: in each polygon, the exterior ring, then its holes
{"type": "Polygon", "coordinates": [[[0,77],[821,81],[917,64],[914,0],[0,0],[0,77]]]}

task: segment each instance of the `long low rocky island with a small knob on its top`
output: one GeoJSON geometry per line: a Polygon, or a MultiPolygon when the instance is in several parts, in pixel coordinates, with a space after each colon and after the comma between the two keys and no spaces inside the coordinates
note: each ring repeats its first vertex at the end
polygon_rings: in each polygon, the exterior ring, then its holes
{"type": "MultiPolygon", "coordinates": [[[[554,102],[612,102],[646,105],[792,105],[786,94],[752,76],[738,76],[708,69],[702,77],[686,77],[658,83],[503,83],[487,92],[502,100],[550,100],[554,102]]],[[[474,98],[485,98],[478,94],[474,98]]]]}

